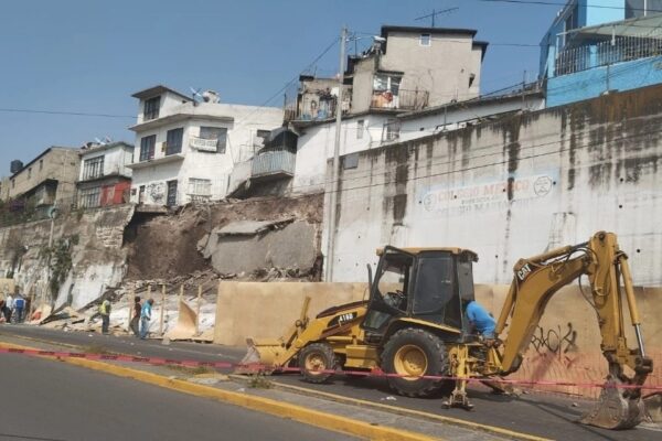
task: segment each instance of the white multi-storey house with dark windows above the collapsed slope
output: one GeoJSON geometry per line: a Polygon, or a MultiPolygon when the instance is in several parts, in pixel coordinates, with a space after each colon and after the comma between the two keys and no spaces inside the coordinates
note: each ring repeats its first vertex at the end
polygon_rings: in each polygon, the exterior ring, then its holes
{"type": "Polygon", "coordinates": [[[234,165],[249,159],[282,110],[218,103],[207,92],[196,101],[164,86],[134,94],[139,99],[131,202],[182,205],[221,200],[234,165]]]}

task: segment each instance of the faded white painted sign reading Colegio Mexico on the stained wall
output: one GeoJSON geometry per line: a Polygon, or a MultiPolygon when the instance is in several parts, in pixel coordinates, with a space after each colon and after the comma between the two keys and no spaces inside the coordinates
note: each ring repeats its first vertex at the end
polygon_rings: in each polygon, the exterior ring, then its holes
{"type": "Polygon", "coordinates": [[[436,185],[428,187],[419,196],[426,212],[435,214],[463,215],[519,205],[547,197],[554,191],[554,175],[535,174],[515,176],[509,180],[449,187],[436,185]]]}

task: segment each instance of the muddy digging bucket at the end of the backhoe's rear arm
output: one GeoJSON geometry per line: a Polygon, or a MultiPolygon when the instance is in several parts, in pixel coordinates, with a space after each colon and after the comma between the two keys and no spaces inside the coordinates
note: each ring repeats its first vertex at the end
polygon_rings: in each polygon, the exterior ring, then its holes
{"type": "Polygon", "coordinates": [[[602,429],[632,429],[645,417],[645,408],[641,397],[626,398],[621,383],[608,379],[596,407],[584,415],[579,422],[602,429]]]}

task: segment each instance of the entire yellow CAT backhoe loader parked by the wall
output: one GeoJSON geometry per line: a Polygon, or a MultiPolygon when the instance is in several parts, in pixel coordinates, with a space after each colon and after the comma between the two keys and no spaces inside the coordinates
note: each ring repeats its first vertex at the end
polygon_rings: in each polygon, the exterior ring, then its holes
{"type": "Polygon", "coordinates": [[[598,405],[580,421],[627,429],[643,419],[641,386],[652,372],[652,361],[643,347],[628,257],[615,234],[600,232],[586,243],[519,260],[495,337],[490,340],[472,332],[462,310],[474,299],[473,251],[387,246],[377,254],[374,280],[369,270],[367,300],[328,309],[312,320],[306,302],[301,318],[284,337],[248,338],[243,364],[258,363],[269,373],[298,366],[312,383],[323,383],[340,369],[381,369],[395,374],[387,379],[401,395],[441,391],[447,406],[470,408],[467,383],[489,383],[516,372],[547,302],[562,287],[587,276],[587,301],[597,314],[609,375],[598,405]],[[626,342],[623,297],[636,349],[626,342]]]}

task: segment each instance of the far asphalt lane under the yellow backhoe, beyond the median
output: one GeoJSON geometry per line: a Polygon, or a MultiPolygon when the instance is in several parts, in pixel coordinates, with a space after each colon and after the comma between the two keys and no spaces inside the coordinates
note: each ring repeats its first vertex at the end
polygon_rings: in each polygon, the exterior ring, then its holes
{"type": "MultiPolygon", "coordinates": [[[[0,334],[29,336],[44,341],[74,344],[82,347],[102,346],[108,351],[154,357],[196,361],[241,361],[245,348],[192,343],[171,343],[166,346],[158,341],[139,341],[132,337],[53,331],[23,325],[0,325],[0,334]]],[[[589,402],[568,400],[545,395],[523,395],[519,398],[495,396],[485,390],[472,389],[470,396],[474,411],[462,409],[442,410],[439,399],[417,399],[394,396],[385,380],[380,378],[338,377],[331,384],[311,385],[299,375],[279,375],[277,383],[296,385],[345,397],[386,404],[435,415],[496,426],[524,433],[552,439],[581,439],[596,441],[661,440],[662,432],[639,427],[628,431],[609,431],[575,421],[586,411],[589,402]],[[387,397],[394,397],[386,399],[387,397]],[[577,405],[575,407],[574,405],[577,405]]]]}

